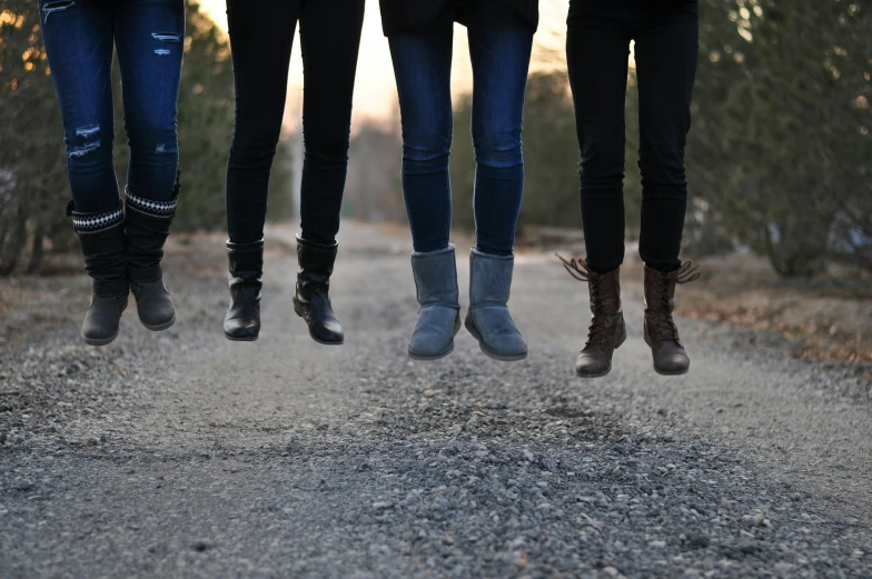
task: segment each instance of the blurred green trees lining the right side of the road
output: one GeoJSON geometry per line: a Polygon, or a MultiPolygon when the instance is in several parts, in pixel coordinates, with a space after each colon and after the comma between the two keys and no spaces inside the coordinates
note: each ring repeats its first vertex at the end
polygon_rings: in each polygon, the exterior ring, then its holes
{"type": "MultiPolygon", "coordinates": [[[[850,0],[701,0],[687,143],[685,252],[750,246],[782,276],[832,260],[872,269],[872,7],[850,0]]],[[[592,58],[596,58],[592,54],[592,58]]],[[[637,91],[627,79],[625,204],[637,230],[637,91]]],[[[470,99],[455,112],[455,223],[473,229],[470,99]]],[[[532,74],[519,224],[578,227],[578,162],[564,71],[532,74]]]]}

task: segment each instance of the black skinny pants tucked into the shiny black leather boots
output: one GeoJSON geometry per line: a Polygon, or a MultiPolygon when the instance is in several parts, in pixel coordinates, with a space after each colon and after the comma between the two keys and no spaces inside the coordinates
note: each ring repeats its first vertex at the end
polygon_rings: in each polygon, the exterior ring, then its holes
{"type": "Polygon", "coordinates": [[[236,124],[227,167],[230,241],[264,237],[299,20],[304,63],[301,236],[333,243],[339,231],[364,0],[227,0],[236,124]]]}

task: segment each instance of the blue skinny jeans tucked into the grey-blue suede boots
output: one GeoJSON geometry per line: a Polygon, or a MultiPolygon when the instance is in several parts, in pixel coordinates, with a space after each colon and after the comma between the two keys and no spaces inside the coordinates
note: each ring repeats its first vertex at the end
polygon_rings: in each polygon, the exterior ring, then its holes
{"type": "MultiPolygon", "coordinates": [[[[473,62],[476,247],[512,254],[524,190],[521,127],[533,29],[488,2],[467,8],[473,62]]],[[[452,189],[452,42],[446,16],[389,37],[403,120],[403,197],[415,251],[448,247],[452,189]]]]}

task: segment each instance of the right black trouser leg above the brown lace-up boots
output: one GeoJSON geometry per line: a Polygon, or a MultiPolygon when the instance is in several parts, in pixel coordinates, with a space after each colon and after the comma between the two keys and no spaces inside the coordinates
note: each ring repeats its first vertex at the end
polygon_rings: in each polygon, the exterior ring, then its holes
{"type": "Polygon", "coordinates": [[[684,146],[698,50],[696,4],[651,9],[635,38],[642,172],[638,249],[646,266],[665,273],[681,264],[687,207],[684,146]]]}

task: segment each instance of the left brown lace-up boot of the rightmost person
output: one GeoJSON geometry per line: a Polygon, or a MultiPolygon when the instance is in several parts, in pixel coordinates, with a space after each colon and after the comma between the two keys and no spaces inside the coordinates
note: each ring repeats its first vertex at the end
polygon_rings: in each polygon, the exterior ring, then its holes
{"type": "Polygon", "coordinates": [[[557,256],[572,277],[586,281],[591,293],[591,326],[587,341],[575,360],[575,373],[581,378],[597,378],[612,371],[612,355],[626,340],[624,312],[621,310],[620,268],[597,273],[581,260],[557,256]]]}

